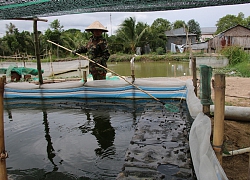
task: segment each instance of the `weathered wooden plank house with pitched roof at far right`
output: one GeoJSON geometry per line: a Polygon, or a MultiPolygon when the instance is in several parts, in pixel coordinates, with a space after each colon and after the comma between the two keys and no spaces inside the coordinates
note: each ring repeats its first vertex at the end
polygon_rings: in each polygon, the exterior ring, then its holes
{"type": "Polygon", "coordinates": [[[250,50],[250,29],[241,25],[231,27],[208,41],[209,52],[219,52],[226,46],[240,46],[250,50]]]}

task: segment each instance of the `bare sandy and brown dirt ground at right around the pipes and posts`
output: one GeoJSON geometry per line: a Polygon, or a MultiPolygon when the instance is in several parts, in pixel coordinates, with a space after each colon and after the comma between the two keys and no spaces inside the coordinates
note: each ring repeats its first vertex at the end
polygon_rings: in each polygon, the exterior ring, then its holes
{"type": "MultiPolygon", "coordinates": [[[[181,77],[180,79],[188,78],[192,79],[192,77],[181,77]]],[[[225,105],[250,107],[250,78],[226,77],[225,105]]],[[[211,120],[213,121],[213,118],[211,120]]],[[[231,151],[250,147],[250,122],[234,120],[224,122],[224,150],[231,151]]],[[[229,180],[249,180],[249,156],[250,154],[242,154],[223,157],[222,167],[229,180]]]]}

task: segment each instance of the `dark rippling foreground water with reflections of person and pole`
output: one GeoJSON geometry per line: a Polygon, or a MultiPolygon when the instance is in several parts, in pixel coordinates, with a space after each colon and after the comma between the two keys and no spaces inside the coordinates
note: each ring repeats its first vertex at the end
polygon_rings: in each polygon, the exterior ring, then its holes
{"type": "Polygon", "coordinates": [[[141,101],[5,101],[9,178],[115,179],[135,124],[152,100],[141,101]]]}

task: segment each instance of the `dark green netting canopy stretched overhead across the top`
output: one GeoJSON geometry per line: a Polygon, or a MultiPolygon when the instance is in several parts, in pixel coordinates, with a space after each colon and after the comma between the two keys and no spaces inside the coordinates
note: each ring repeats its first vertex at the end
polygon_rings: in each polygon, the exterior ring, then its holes
{"type": "Polygon", "coordinates": [[[90,12],[146,12],[250,3],[250,0],[0,0],[0,19],[90,12]]]}

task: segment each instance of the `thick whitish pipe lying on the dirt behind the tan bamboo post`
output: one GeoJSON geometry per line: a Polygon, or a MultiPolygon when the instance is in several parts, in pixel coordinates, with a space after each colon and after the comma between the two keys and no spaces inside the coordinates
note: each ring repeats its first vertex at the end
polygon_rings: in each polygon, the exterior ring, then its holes
{"type": "MultiPolygon", "coordinates": [[[[214,105],[210,106],[210,111],[214,112],[214,105]]],[[[250,121],[250,107],[225,106],[225,119],[250,121]]]]}

